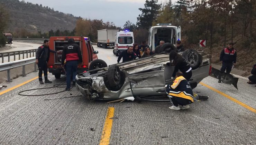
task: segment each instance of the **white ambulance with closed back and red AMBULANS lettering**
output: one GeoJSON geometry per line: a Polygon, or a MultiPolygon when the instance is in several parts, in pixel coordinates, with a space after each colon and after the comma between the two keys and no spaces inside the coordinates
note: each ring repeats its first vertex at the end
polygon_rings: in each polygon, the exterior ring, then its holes
{"type": "Polygon", "coordinates": [[[133,46],[133,44],[134,44],[133,32],[129,32],[129,30],[117,32],[113,54],[118,56],[123,50],[126,50],[128,46],[133,46]]]}

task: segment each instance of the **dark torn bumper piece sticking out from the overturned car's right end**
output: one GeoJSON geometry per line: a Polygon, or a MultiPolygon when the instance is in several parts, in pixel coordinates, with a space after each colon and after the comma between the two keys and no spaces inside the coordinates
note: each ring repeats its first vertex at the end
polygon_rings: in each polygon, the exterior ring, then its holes
{"type": "Polygon", "coordinates": [[[237,88],[238,78],[234,77],[231,74],[227,74],[227,72],[221,72],[220,70],[212,67],[210,76],[221,80],[225,84],[229,84],[229,85],[232,84],[236,89],[238,89],[237,88]]]}

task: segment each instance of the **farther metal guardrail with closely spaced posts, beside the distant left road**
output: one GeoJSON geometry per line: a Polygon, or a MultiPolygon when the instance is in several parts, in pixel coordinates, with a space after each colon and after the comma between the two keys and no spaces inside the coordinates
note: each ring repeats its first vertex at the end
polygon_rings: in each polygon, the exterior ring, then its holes
{"type": "Polygon", "coordinates": [[[25,58],[25,54],[27,54],[26,58],[28,58],[28,54],[29,54],[29,57],[31,57],[31,53],[32,53],[32,56],[34,57],[36,52],[37,52],[37,49],[22,50],[22,51],[12,51],[12,52],[2,52],[0,54],[0,57],[2,58],[2,63],[4,63],[4,57],[8,56],[8,62],[10,62],[10,56],[13,56],[14,61],[15,61],[16,60],[16,55],[19,55],[19,60],[20,60],[21,59],[21,57],[20,57],[21,54],[22,54],[22,59],[24,59],[25,58]]]}

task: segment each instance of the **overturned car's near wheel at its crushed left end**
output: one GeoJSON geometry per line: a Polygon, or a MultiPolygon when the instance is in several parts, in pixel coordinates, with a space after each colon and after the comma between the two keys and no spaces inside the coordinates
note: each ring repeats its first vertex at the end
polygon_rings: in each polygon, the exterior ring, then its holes
{"type": "Polygon", "coordinates": [[[117,65],[110,65],[108,68],[108,84],[110,87],[119,85],[121,82],[120,68],[117,65]]]}

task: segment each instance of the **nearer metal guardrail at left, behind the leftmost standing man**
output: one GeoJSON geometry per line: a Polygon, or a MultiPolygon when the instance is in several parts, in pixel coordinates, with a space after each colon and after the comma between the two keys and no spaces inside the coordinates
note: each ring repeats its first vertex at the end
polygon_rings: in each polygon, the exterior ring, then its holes
{"type": "Polygon", "coordinates": [[[11,62],[4,62],[0,64],[0,72],[7,70],[7,81],[11,81],[10,70],[17,67],[22,67],[22,76],[25,76],[25,66],[29,64],[35,64],[34,71],[36,71],[36,58],[26,58],[22,60],[16,60],[11,62]]]}

